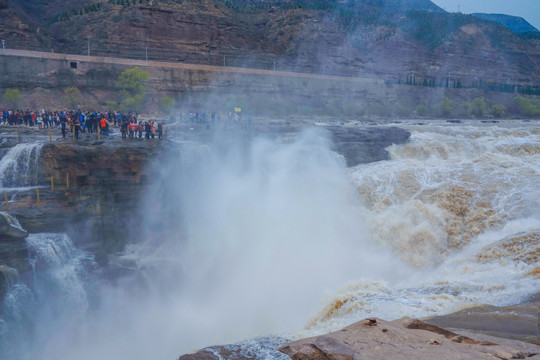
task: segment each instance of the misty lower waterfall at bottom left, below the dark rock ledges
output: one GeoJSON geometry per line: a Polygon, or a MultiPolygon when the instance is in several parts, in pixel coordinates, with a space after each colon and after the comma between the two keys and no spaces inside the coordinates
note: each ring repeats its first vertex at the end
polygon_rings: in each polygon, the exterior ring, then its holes
{"type": "Polygon", "coordinates": [[[0,359],[40,358],[40,351],[57,346],[51,338],[76,338],[89,308],[85,285],[97,266],[93,257],[65,234],[32,234],[26,243],[33,271],[4,296],[0,359]]]}

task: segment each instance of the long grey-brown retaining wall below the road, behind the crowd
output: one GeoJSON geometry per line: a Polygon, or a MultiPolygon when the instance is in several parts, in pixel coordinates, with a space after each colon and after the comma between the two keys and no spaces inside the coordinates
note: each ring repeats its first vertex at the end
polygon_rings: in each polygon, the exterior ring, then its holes
{"type": "MultiPolygon", "coordinates": [[[[187,106],[243,105],[255,111],[342,107],[385,96],[378,79],[359,79],[254,69],[145,62],[128,59],[5,50],[0,54],[0,87],[18,88],[33,106],[62,104],[62,91],[76,86],[84,101],[103,107],[115,100],[115,82],[124,70],[140,67],[149,73],[149,103],[155,110],[164,96],[187,106]],[[38,94],[38,95],[36,95],[38,94]],[[42,96],[40,96],[42,95],[42,96]],[[276,108],[277,107],[277,108],[276,108]]],[[[27,101],[25,97],[25,101],[27,101]]],[[[84,106],[86,104],[81,104],[84,106]]]]}

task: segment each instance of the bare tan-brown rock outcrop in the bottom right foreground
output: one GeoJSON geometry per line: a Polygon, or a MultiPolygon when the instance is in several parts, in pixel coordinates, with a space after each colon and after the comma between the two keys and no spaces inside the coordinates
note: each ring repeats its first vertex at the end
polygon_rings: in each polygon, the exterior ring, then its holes
{"type": "Polygon", "coordinates": [[[485,335],[473,338],[410,318],[366,319],[280,351],[293,360],[540,359],[540,346],[485,335]]]}

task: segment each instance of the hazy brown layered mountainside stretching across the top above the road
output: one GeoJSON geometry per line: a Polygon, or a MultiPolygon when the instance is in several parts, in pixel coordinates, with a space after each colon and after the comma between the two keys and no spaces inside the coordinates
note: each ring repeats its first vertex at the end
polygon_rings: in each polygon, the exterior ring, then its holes
{"type": "Polygon", "coordinates": [[[450,74],[464,85],[540,78],[538,40],[428,0],[11,0],[4,14],[19,18],[0,25],[13,47],[138,59],[148,49],[155,60],[396,82],[413,74],[420,81],[450,74]]]}

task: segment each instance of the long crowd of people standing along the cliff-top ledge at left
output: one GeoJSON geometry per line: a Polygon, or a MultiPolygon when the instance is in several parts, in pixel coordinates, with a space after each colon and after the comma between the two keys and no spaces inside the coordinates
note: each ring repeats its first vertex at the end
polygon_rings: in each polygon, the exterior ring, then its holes
{"type": "Polygon", "coordinates": [[[116,111],[39,111],[31,110],[0,110],[0,121],[4,125],[25,125],[40,129],[59,128],[62,137],[69,130],[75,139],[80,133],[97,133],[108,136],[110,126],[120,128],[122,139],[153,139],[163,137],[163,124],[156,125],[155,121],[141,121],[136,113],[121,113],[116,111]]]}

